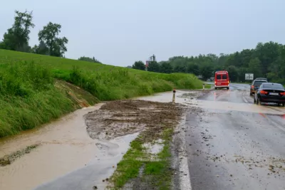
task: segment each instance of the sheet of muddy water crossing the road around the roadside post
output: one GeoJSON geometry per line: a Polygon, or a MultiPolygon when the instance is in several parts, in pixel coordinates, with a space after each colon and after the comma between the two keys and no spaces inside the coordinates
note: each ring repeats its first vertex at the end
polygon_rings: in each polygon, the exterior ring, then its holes
{"type": "MultiPolygon", "coordinates": [[[[277,106],[259,106],[250,102],[252,97],[246,90],[213,90],[209,93],[202,90],[177,90],[175,102],[193,107],[202,107],[215,110],[233,110],[242,112],[268,113],[284,115],[285,108],[277,106]],[[197,99],[198,97],[198,99],[197,99]],[[229,100],[232,100],[231,102],[229,100]]],[[[150,100],[157,102],[171,102],[172,92],[159,93],[148,97],[139,97],[138,100],[150,100]]],[[[253,101],[253,100],[252,100],[253,101]]]]}

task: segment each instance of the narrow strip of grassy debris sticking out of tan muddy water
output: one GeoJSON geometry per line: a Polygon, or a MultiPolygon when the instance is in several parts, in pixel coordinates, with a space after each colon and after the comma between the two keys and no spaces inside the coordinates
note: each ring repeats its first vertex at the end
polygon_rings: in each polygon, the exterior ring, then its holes
{"type": "Polygon", "coordinates": [[[4,157],[1,157],[0,158],[0,166],[4,167],[6,165],[11,164],[12,162],[14,162],[19,157],[22,157],[24,154],[30,153],[33,149],[36,149],[36,147],[38,147],[39,145],[40,144],[33,144],[33,145],[26,147],[25,149],[22,149],[22,150],[13,152],[9,155],[6,155],[4,157]]]}

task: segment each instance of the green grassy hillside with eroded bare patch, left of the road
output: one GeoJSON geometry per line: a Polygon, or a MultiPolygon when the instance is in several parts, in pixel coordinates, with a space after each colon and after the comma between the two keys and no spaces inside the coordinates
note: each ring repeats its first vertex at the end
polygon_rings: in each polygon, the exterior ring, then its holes
{"type": "Polygon", "coordinates": [[[0,137],[49,122],[82,104],[151,95],[173,88],[202,88],[202,82],[190,74],[152,73],[0,50],[0,137]]]}

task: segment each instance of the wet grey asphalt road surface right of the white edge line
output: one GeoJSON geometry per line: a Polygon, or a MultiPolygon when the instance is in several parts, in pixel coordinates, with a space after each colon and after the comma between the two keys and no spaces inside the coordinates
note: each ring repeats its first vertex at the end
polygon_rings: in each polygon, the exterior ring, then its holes
{"type": "MultiPolygon", "coordinates": [[[[213,90],[201,100],[257,106],[249,85],[231,84],[229,90],[213,90]]],[[[280,115],[222,107],[187,112],[193,190],[285,189],[285,110],[264,106],[280,115]]]]}

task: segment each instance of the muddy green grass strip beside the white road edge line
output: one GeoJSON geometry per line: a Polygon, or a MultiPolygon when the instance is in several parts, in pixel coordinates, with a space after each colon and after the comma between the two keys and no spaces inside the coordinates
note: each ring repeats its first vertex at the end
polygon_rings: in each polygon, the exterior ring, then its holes
{"type": "Polygon", "coordinates": [[[109,189],[121,189],[128,182],[132,183],[132,179],[135,183],[140,183],[141,187],[170,189],[173,174],[170,168],[170,142],[173,130],[167,129],[162,133],[163,149],[157,155],[147,152],[141,136],[131,142],[130,149],[118,163],[115,174],[111,177],[113,186],[109,189]],[[139,174],[140,171],[142,174],[139,174]]]}

